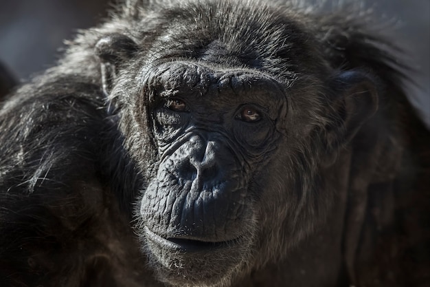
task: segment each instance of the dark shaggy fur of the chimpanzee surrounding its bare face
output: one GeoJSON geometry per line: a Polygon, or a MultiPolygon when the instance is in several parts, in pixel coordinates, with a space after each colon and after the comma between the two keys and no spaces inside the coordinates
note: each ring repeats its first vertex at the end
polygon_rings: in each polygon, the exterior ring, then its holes
{"type": "Polygon", "coordinates": [[[56,67],[1,105],[1,286],[429,283],[430,133],[407,100],[396,48],[365,16],[140,2],[83,31],[56,67]],[[126,37],[110,45],[109,35],[126,37]],[[205,54],[211,45],[228,56],[205,54]],[[251,215],[232,225],[247,227],[240,248],[167,254],[185,265],[164,268],[144,234],[163,218],[139,213],[160,164],[139,73],[168,52],[274,78],[288,111],[249,173],[251,215]]]}

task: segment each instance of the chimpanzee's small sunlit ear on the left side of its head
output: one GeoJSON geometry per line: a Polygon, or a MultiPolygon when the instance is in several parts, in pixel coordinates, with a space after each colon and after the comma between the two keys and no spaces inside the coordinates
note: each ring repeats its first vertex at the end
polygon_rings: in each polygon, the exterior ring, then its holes
{"type": "Polygon", "coordinates": [[[111,92],[117,67],[131,59],[137,50],[137,44],[132,39],[118,33],[104,36],[95,44],[95,54],[101,61],[102,85],[106,96],[111,92]]]}

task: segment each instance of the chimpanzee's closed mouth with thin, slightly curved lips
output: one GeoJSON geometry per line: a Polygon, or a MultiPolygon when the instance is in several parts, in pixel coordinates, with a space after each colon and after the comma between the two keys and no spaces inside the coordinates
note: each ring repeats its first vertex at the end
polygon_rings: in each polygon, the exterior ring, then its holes
{"type": "Polygon", "coordinates": [[[175,251],[183,251],[187,253],[216,251],[223,248],[229,248],[238,244],[238,241],[240,240],[239,237],[234,240],[227,240],[223,242],[205,242],[184,237],[164,238],[157,233],[150,231],[150,229],[146,226],[144,228],[144,232],[148,240],[159,246],[162,246],[163,248],[168,248],[175,251]]]}

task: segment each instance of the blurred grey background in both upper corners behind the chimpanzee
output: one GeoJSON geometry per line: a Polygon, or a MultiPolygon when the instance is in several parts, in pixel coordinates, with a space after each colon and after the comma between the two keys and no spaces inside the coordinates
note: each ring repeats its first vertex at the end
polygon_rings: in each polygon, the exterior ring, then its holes
{"type": "MultiPolygon", "coordinates": [[[[409,51],[412,66],[419,71],[414,78],[420,88],[413,88],[412,100],[430,125],[430,0],[349,1],[373,7],[376,17],[393,24],[389,34],[409,51]]],[[[0,0],[0,61],[21,79],[53,65],[63,40],[106,17],[110,2],[0,0]]]]}

